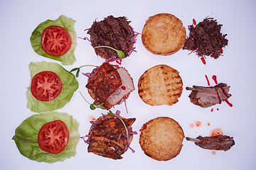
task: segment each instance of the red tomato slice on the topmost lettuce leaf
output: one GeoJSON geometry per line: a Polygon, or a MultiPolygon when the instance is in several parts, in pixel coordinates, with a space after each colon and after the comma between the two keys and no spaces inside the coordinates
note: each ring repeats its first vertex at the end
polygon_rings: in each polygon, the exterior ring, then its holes
{"type": "Polygon", "coordinates": [[[60,26],[49,26],[43,30],[41,46],[48,55],[65,55],[72,45],[70,34],[60,26]]]}

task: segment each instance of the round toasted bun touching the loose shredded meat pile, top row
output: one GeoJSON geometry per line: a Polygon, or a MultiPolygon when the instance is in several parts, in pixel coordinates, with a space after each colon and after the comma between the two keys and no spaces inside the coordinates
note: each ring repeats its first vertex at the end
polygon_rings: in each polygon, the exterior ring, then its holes
{"type": "Polygon", "coordinates": [[[186,28],[169,13],[149,17],[142,30],[142,43],[154,55],[173,55],[185,41],[186,28]]]}

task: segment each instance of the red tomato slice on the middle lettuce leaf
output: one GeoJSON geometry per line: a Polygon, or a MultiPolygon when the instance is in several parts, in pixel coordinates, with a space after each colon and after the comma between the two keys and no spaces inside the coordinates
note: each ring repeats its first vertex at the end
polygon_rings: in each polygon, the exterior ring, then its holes
{"type": "Polygon", "coordinates": [[[52,101],[62,87],[60,77],[54,72],[39,72],[31,81],[31,93],[38,101],[52,101]]]}

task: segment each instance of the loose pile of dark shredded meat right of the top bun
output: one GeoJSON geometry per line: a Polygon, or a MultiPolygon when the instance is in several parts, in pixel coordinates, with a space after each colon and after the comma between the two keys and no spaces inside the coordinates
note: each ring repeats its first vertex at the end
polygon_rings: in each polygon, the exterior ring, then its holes
{"type": "Polygon", "coordinates": [[[228,40],[225,38],[227,34],[220,33],[221,26],[223,25],[218,24],[213,18],[205,18],[196,27],[188,26],[189,37],[182,49],[196,52],[198,57],[212,55],[218,59],[223,53],[223,47],[228,45],[228,40]]]}

